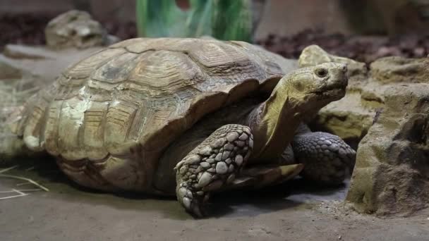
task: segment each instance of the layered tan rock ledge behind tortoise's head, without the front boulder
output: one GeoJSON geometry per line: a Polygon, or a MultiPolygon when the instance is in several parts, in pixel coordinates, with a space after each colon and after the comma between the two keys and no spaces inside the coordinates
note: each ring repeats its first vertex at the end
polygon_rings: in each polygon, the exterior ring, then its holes
{"type": "Polygon", "coordinates": [[[385,57],[370,63],[369,71],[364,63],[328,54],[316,45],[303,50],[300,66],[314,66],[325,61],[347,63],[349,86],[346,96],[322,108],[318,116],[309,118],[313,130],[323,130],[342,137],[351,147],[373,125],[377,111],[385,105],[385,90],[406,82],[428,82],[428,60],[425,58],[385,57]]]}

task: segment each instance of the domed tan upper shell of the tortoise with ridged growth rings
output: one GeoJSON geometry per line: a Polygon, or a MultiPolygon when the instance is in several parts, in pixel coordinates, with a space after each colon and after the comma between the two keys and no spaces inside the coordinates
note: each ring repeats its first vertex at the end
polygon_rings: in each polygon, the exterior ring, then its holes
{"type": "Polygon", "coordinates": [[[18,132],[30,149],[68,163],[138,155],[147,171],[207,113],[271,92],[295,68],[296,61],[246,42],[128,39],[42,89],[28,101],[18,132]]]}

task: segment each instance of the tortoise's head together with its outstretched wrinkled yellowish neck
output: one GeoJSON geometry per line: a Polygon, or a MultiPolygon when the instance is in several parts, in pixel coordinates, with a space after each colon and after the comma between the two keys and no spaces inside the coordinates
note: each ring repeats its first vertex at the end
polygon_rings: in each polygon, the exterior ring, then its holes
{"type": "Polygon", "coordinates": [[[255,137],[254,159],[277,158],[302,121],[346,94],[346,65],[322,63],[285,75],[271,96],[250,115],[255,137]]]}

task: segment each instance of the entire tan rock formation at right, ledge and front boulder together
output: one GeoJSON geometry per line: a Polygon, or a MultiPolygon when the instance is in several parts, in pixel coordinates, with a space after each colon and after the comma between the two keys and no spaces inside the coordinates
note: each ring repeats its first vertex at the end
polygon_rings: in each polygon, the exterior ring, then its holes
{"type": "Polygon", "coordinates": [[[368,71],[317,46],[299,59],[300,66],[327,61],[348,63],[352,70],[346,97],[323,108],[313,121],[318,130],[358,145],[346,201],[379,216],[410,215],[428,207],[428,59],[380,58],[368,71]]]}

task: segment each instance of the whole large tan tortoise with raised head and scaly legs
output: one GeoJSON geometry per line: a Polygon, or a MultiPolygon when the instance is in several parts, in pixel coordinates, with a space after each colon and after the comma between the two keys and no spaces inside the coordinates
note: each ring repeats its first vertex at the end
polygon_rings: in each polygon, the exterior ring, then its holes
{"type": "Polygon", "coordinates": [[[344,97],[346,69],[297,68],[246,42],[128,39],[64,70],[25,104],[13,131],[79,185],[176,194],[204,216],[212,192],[302,170],[342,182],[354,150],[302,121],[344,97]]]}

